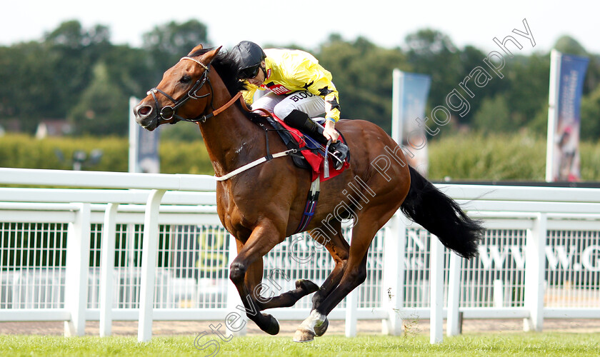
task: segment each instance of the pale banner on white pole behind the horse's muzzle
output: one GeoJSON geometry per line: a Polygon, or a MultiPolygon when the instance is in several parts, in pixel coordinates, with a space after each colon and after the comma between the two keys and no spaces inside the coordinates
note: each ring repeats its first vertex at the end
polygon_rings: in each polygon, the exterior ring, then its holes
{"type": "Polygon", "coordinates": [[[147,131],[136,123],[133,113],[138,103],[139,99],[129,99],[129,172],[159,174],[160,126],[154,131],[147,131]]]}

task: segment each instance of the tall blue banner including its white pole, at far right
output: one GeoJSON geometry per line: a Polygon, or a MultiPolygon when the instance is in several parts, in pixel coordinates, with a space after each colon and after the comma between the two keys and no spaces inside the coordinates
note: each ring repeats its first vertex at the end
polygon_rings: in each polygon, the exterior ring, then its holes
{"type": "Polygon", "coordinates": [[[589,59],[552,50],[546,181],[579,181],[581,94],[589,59]]]}

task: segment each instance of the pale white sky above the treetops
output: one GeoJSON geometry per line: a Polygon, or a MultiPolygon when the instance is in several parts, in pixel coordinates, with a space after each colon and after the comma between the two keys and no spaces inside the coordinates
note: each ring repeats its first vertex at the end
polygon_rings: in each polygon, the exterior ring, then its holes
{"type": "Polygon", "coordinates": [[[436,29],[456,46],[481,51],[498,47],[514,36],[522,49],[546,53],[562,35],[600,54],[600,1],[356,1],[356,0],[188,0],[188,1],[5,1],[1,6],[0,46],[40,40],[63,21],[79,20],[88,29],[108,26],[113,44],[141,46],[142,34],[169,21],[196,19],[208,27],[209,40],[229,49],[241,40],[262,46],[297,44],[317,49],[330,34],[346,41],[364,36],[382,47],[404,46],[406,35],[419,29],[436,29]],[[513,30],[529,25],[535,46],[513,30]],[[521,41],[522,40],[522,41],[521,41]]]}

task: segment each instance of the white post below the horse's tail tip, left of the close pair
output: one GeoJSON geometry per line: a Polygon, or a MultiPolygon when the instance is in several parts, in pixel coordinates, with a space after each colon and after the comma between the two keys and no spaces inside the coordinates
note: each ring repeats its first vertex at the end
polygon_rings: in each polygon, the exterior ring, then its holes
{"type": "Polygon", "coordinates": [[[444,246],[438,238],[430,235],[429,247],[429,283],[431,292],[431,331],[429,343],[440,343],[444,340],[444,246]]]}

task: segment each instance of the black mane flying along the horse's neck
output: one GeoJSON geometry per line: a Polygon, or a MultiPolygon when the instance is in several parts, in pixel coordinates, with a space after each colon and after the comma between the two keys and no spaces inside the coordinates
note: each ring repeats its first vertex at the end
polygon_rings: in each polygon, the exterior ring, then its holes
{"type": "MultiPolygon", "coordinates": [[[[194,51],[189,54],[191,57],[201,56],[206,54],[206,52],[212,51],[213,49],[199,49],[198,51],[194,51]]],[[[235,96],[237,92],[246,90],[246,85],[244,82],[238,80],[239,76],[239,64],[236,61],[235,56],[231,54],[229,51],[221,50],[219,54],[215,56],[213,61],[211,62],[211,66],[214,68],[217,74],[221,77],[221,80],[225,84],[229,94],[231,96],[235,96]]],[[[241,108],[241,104],[239,101],[236,102],[241,108]]],[[[242,113],[244,113],[249,119],[255,120],[260,117],[259,114],[249,113],[242,109],[242,113]]]]}

